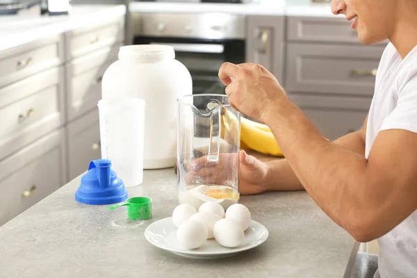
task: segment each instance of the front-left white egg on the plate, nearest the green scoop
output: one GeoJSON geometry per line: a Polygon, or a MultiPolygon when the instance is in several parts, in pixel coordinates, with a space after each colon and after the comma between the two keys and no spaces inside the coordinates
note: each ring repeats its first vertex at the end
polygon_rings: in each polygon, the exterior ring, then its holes
{"type": "Polygon", "coordinates": [[[206,243],[207,227],[202,222],[188,220],[177,229],[177,241],[187,249],[196,249],[206,243]]]}

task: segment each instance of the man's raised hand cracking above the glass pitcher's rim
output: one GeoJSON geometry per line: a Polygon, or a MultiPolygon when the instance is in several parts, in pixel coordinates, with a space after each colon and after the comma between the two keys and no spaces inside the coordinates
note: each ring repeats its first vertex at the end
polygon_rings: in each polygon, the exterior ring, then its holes
{"type": "Polygon", "coordinates": [[[263,115],[288,101],[275,76],[261,65],[224,63],[219,77],[227,86],[229,104],[237,111],[264,122],[263,115]]]}

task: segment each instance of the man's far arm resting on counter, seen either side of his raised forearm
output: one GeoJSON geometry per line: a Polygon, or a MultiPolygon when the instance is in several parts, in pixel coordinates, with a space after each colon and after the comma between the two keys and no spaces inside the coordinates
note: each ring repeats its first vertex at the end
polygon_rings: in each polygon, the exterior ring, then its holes
{"type": "MultiPolygon", "coordinates": [[[[365,154],[365,141],[361,136],[361,131],[354,131],[353,133],[346,134],[341,138],[338,138],[333,142],[336,145],[340,145],[345,149],[350,149],[357,154],[365,154]]],[[[267,177],[267,190],[303,190],[302,183],[298,180],[293,169],[286,159],[279,159],[276,161],[270,161],[268,164],[268,177],[267,177]]]]}

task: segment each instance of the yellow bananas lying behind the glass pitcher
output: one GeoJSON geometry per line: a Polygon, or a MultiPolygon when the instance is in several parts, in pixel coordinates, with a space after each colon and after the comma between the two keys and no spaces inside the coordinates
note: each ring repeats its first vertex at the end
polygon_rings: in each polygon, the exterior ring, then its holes
{"type": "MultiPolygon", "coordinates": [[[[234,138],[238,138],[238,119],[236,116],[224,108],[222,113],[222,138],[229,142],[229,144],[236,144],[233,142],[234,138]]],[[[262,154],[269,154],[271,156],[284,156],[279,149],[277,141],[270,128],[265,124],[253,122],[244,117],[240,118],[240,147],[242,149],[253,149],[262,154]]]]}

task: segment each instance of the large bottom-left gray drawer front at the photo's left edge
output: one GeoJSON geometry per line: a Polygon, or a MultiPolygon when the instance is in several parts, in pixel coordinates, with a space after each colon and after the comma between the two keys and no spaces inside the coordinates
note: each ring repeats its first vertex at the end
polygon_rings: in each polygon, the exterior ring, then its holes
{"type": "Polygon", "coordinates": [[[65,129],[0,162],[0,226],[67,183],[65,129]]]}

